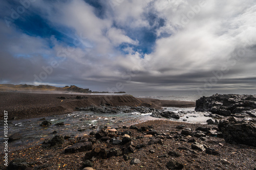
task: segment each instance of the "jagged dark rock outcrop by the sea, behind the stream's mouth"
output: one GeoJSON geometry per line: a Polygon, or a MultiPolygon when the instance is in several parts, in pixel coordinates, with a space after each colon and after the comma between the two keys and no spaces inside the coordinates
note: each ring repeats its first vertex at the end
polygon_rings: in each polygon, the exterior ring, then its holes
{"type": "Polygon", "coordinates": [[[223,116],[256,117],[256,95],[214,94],[196,101],[196,111],[210,111],[223,116]],[[254,109],[254,110],[253,110],[254,109]]]}

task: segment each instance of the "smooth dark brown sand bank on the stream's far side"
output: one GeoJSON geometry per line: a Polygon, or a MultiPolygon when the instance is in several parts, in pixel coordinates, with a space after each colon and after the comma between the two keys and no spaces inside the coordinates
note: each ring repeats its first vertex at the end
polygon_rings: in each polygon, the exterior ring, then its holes
{"type": "Polygon", "coordinates": [[[8,111],[9,118],[24,119],[71,113],[87,106],[195,107],[195,102],[134,98],[131,95],[90,95],[69,93],[0,92],[0,118],[8,111]],[[77,99],[81,96],[81,99],[77,99]],[[66,99],[57,99],[65,97],[66,99]]]}

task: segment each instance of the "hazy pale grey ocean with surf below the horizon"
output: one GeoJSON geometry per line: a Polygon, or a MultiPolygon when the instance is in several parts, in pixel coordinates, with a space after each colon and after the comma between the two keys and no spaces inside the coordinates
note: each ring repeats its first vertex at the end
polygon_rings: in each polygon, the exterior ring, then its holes
{"type": "Polygon", "coordinates": [[[202,96],[210,96],[212,94],[256,94],[255,89],[221,89],[208,90],[199,93],[197,90],[177,90],[177,91],[127,91],[136,98],[153,98],[159,100],[180,100],[180,101],[196,101],[202,96]]]}

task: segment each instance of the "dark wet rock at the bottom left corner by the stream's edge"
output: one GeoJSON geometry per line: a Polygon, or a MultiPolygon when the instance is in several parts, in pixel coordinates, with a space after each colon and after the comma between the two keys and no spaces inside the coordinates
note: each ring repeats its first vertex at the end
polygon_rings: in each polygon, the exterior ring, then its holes
{"type": "Polygon", "coordinates": [[[35,163],[28,163],[26,162],[26,159],[19,159],[19,158],[16,158],[16,159],[13,159],[7,169],[8,170],[19,170],[19,169],[26,169],[28,167],[33,167],[32,165],[34,165],[35,163]]]}

